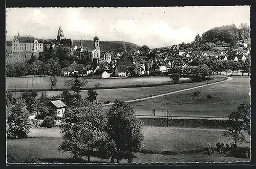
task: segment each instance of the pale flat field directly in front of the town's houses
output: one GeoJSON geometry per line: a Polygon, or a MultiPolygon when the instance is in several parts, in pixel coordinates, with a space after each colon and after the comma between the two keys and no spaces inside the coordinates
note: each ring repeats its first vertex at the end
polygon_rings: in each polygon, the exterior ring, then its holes
{"type": "MultiPolygon", "coordinates": [[[[7,78],[7,89],[50,89],[49,77],[24,77],[24,78],[7,78]],[[33,83],[33,86],[32,86],[33,83]]],[[[73,79],[72,77],[57,77],[56,89],[65,89],[65,81],[73,79]]],[[[185,78],[181,78],[181,81],[185,78]]],[[[152,76],[152,77],[136,77],[136,78],[87,78],[85,88],[93,88],[96,82],[101,83],[101,87],[122,87],[132,85],[158,85],[170,84],[172,80],[167,76],[152,76]]]]}

